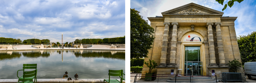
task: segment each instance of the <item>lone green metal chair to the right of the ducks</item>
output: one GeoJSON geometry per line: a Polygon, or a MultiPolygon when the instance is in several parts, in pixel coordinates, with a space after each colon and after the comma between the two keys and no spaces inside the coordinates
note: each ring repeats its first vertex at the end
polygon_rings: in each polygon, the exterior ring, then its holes
{"type": "Polygon", "coordinates": [[[112,82],[122,83],[123,82],[122,79],[123,79],[123,70],[109,70],[109,79],[104,79],[103,83],[105,83],[105,81],[108,83],[112,83],[112,82]],[[110,76],[119,76],[119,77],[122,76],[120,77],[121,82],[118,81],[117,79],[110,79],[110,76]]]}

